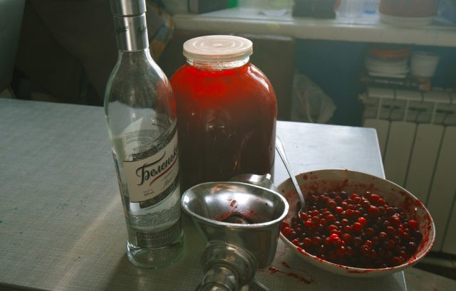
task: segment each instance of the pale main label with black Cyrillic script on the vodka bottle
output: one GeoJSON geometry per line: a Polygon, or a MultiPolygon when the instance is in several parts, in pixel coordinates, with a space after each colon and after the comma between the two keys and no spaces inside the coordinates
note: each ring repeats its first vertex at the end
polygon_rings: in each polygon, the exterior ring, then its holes
{"type": "Polygon", "coordinates": [[[177,131],[169,144],[156,154],[137,161],[124,161],[130,202],[155,198],[168,189],[179,174],[177,131]]]}

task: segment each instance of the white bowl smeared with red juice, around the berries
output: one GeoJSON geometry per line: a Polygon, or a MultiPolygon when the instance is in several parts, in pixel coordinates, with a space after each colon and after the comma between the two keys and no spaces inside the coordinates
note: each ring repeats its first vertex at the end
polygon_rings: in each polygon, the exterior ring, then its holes
{"type": "MultiPolygon", "coordinates": [[[[318,268],[326,270],[331,273],[339,275],[346,275],[351,277],[380,277],[390,275],[408,268],[421,260],[432,248],[435,239],[435,226],[430,216],[429,211],[425,208],[423,203],[417,199],[413,194],[407,190],[394,184],[391,181],[381,179],[378,176],[365,174],[358,171],[350,171],[347,169],[324,169],[318,171],[309,171],[296,175],[301,190],[304,196],[309,191],[323,192],[323,191],[346,191],[347,193],[364,193],[371,191],[380,196],[383,196],[391,206],[400,207],[405,211],[406,216],[414,219],[419,223],[419,229],[423,233],[423,240],[418,247],[415,255],[412,256],[407,262],[391,268],[380,269],[363,269],[353,268],[345,265],[338,265],[330,263],[326,260],[306,253],[306,250],[296,247],[289,241],[282,233],[280,233],[281,240],[294,250],[296,255],[318,268]]],[[[278,186],[279,192],[284,195],[289,202],[289,213],[284,219],[286,223],[290,223],[291,218],[296,216],[297,203],[299,201],[296,190],[294,190],[291,179],[284,181],[278,186]]]]}

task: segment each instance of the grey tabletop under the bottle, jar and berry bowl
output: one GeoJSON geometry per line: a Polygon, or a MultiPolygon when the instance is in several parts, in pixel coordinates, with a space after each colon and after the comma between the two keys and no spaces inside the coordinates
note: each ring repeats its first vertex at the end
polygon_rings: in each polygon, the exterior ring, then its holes
{"type": "MultiPolygon", "coordinates": [[[[186,216],[185,255],[172,268],[128,261],[104,118],[101,107],[0,99],[1,290],[195,290],[201,280],[205,240],[186,216]]],[[[374,129],[279,121],[277,134],[296,173],[335,168],[384,176],[374,129]]],[[[287,179],[278,156],[274,171],[275,184],[287,179]]],[[[272,266],[278,272],[257,273],[270,290],[407,290],[402,272],[333,275],[281,241],[272,266]]]]}

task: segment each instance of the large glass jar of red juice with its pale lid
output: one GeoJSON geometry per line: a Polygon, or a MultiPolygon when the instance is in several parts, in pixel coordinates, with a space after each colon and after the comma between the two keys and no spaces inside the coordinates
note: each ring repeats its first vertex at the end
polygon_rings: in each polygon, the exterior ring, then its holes
{"type": "Polygon", "coordinates": [[[181,190],[238,174],[273,174],[277,102],[266,75],[250,63],[252,41],[201,36],[170,78],[175,92],[181,190]]]}

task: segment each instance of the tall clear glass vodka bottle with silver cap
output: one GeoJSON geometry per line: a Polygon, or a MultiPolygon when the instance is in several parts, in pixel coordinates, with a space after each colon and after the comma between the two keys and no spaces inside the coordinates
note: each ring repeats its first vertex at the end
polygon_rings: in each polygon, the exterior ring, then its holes
{"type": "Polygon", "coordinates": [[[127,223],[129,260],[143,268],[175,263],[184,250],[175,100],[152,60],[145,0],[111,0],[118,62],[105,92],[105,117],[127,223]]]}

